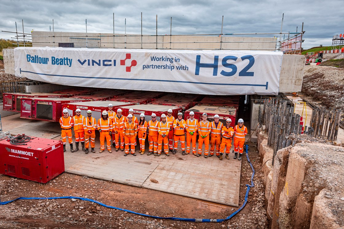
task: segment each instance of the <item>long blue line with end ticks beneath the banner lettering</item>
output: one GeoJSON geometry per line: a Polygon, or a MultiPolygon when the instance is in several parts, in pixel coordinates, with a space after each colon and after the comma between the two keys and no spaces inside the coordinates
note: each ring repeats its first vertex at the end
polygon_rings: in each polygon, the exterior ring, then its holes
{"type": "Polygon", "coordinates": [[[248,84],[248,83],[205,83],[205,82],[192,82],[192,81],[178,81],[178,80],[155,80],[155,79],[126,79],[126,78],[112,78],[112,77],[88,77],[88,76],[68,76],[68,75],[54,75],[54,74],[46,74],[46,73],[39,73],[33,71],[24,71],[20,70],[20,74],[22,72],[28,72],[36,75],[44,75],[44,76],[60,76],[60,77],[72,77],[72,78],[87,78],[87,79],[111,79],[111,80],[138,80],[138,81],[159,81],[159,82],[173,82],[173,83],[194,83],[194,84],[208,84],[208,85],[226,85],[226,86],[254,86],[254,87],[265,87],[268,90],[268,83],[266,84],[248,84]]]}

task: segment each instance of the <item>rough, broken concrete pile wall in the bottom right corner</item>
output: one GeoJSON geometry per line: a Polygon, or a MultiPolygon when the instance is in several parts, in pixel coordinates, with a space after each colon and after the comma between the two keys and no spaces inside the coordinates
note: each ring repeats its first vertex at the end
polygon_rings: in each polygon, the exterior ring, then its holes
{"type": "Polygon", "coordinates": [[[318,142],[280,149],[272,166],[258,135],[271,228],[344,228],[344,149],[318,142]]]}

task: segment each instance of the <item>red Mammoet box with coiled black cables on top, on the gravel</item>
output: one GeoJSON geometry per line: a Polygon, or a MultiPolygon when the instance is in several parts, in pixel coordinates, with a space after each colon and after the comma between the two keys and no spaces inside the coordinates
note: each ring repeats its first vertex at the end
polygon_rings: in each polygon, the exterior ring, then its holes
{"type": "Polygon", "coordinates": [[[31,137],[27,145],[0,141],[0,173],[46,183],[64,172],[62,141],[31,137]]]}

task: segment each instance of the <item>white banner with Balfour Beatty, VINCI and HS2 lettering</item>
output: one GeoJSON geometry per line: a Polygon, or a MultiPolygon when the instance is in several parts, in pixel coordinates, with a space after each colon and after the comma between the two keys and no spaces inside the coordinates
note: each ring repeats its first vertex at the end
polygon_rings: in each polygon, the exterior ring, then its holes
{"type": "Polygon", "coordinates": [[[278,94],[272,51],[19,47],[15,75],[82,87],[213,95],[278,94]]]}

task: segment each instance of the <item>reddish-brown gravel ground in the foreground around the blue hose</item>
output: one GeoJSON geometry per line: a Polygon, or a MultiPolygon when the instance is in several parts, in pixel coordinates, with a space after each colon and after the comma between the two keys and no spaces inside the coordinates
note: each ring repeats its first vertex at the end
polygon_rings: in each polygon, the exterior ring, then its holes
{"type": "MultiPolygon", "coordinates": [[[[254,177],[255,187],[251,188],[245,208],[223,223],[153,219],[87,201],[58,199],[20,200],[1,206],[0,228],[268,228],[263,173],[260,170],[259,153],[254,145],[250,146],[249,157],[257,170],[254,177]]],[[[244,157],[241,166],[239,206],[244,202],[246,184],[250,184],[251,175],[251,168],[244,157]]],[[[222,219],[238,209],[68,173],[59,175],[47,184],[0,175],[1,201],[9,201],[20,196],[87,197],[107,205],[161,217],[222,219]]]]}

